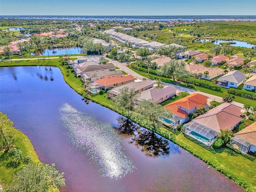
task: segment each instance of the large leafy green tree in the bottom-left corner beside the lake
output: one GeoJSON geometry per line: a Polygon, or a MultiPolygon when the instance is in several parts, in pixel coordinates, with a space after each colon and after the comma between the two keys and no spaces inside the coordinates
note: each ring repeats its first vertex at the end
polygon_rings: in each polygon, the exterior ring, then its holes
{"type": "Polygon", "coordinates": [[[60,189],[66,186],[64,173],[55,169],[55,164],[29,163],[16,171],[6,185],[6,191],[45,192],[50,187],[60,189]]]}

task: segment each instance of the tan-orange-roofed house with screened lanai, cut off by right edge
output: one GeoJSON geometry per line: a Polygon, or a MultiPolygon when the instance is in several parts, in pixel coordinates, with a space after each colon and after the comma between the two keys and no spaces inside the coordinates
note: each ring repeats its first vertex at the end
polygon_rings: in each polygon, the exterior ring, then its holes
{"type": "Polygon", "coordinates": [[[256,122],[234,134],[230,145],[244,155],[249,151],[256,152],[256,122]]]}

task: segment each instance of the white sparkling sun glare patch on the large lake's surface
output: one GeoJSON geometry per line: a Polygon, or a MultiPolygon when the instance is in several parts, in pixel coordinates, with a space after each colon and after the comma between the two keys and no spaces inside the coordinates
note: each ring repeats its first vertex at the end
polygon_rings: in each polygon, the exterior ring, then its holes
{"type": "Polygon", "coordinates": [[[120,136],[110,124],[99,122],[67,103],[60,108],[60,120],[72,143],[88,152],[103,176],[118,178],[133,170],[132,160],[122,152],[120,136]]]}

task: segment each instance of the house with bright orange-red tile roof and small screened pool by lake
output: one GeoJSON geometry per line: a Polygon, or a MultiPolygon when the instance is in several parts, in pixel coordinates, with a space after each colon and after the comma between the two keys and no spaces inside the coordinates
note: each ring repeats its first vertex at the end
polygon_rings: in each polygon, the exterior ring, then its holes
{"type": "Polygon", "coordinates": [[[162,122],[167,126],[176,128],[176,126],[178,126],[179,124],[188,121],[188,114],[192,112],[195,113],[201,107],[208,108],[207,99],[207,96],[198,93],[193,93],[189,96],[186,96],[164,106],[166,110],[172,112],[172,118],[167,119],[163,117],[162,122]]]}

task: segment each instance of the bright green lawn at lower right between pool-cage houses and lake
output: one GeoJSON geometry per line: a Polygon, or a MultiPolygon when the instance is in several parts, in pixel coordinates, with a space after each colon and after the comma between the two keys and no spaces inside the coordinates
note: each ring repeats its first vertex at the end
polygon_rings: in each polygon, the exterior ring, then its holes
{"type": "Polygon", "coordinates": [[[214,149],[216,151],[214,154],[188,140],[184,134],[176,136],[176,140],[179,145],[186,146],[208,164],[224,170],[229,178],[235,179],[240,185],[244,184],[244,187],[248,186],[249,191],[256,191],[256,160],[251,161],[228,148],[214,149]]]}

